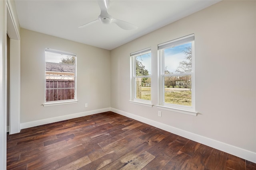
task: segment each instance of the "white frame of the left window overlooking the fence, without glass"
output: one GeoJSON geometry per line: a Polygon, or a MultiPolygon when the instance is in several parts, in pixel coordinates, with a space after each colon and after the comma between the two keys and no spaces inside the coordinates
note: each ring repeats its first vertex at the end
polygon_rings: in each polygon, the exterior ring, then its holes
{"type": "MultiPolygon", "coordinates": [[[[44,104],[43,106],[57,106],[57,105],[64,105],[64,104],[74,104],[77,103],[78,101],[76,100],[76,53],[69,53],[66,51],[59,51],[59,50],[55,50],[55,49],[45,49],[45,52],[51,52],[51,53],[57,53],[57,54],[62,54],[62,55],[69,55],[72,57],[75,57],[75,70],[74,70],[74,99],[69,99],[69,100],[58,100],[58,101],[50,101],[50,102],[46,102],[46,74],[44,76],[44,104]]],[[[44,62],[44,64],[46,64],[46,62],[44,62]]],[[[46,66],[44,66],[44,68],[46,68],[46,66]]],[[[46,70],[44,70],[44,72],[46,72],[46,70]]]]}

